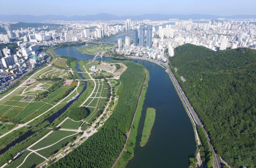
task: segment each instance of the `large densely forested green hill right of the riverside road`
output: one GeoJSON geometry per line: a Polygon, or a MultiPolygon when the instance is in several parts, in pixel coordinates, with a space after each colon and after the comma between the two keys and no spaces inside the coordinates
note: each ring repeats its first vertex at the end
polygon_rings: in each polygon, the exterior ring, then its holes
{"type": "Polygon", "coordinates": [[[185,44],[170,57],[215,150],[235,168],[256,166],[256,50],[243,49],[212,51],[185,44]]]}

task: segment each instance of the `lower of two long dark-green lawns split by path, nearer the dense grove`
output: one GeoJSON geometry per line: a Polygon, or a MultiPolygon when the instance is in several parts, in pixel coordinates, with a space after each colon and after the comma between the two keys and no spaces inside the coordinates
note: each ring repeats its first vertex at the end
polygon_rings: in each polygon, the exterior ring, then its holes
{"type": "Polygon", "coordinates": [[[48,148],[38,150],[37,152],[39,154],[41,154],[42,156],[49,158],[53,154],[56,154],[62,147],[64,147],[65,145],[67,146],[69,144],[70,139],[73,137],[77,137],[77,135],[78,135],[78,133],[76,133],[74,136],[70,136],[70,137],[63,139],[60,142],[58,142],[48,148]]]}

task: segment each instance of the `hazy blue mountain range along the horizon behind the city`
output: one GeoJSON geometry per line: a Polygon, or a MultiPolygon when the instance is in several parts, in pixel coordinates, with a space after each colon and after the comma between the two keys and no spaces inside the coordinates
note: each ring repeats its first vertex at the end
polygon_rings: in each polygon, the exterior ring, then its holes
{"type": "Polygon", "coordinates": [[[44,20],[64,20],[64,21],[94,21],[94,20],[126,20],[130,18],[131,20],[169,20],[172,18],[177,18],[179,20],[198,20],[198,19],[251,19],[256,18],[256,15],[234,15],[234,16],[217,16],[217,15],[204,15],[204,14],[190,14],[190,15],[180,15],[180,14],[144,14],[140,16],[116,16],[112,14],[100,13],[96,15],[85,15],[85,16],[63,16],[63,15],[0,15],[0,21],[10,21],[10,22],[42,22],[44,20]]]}

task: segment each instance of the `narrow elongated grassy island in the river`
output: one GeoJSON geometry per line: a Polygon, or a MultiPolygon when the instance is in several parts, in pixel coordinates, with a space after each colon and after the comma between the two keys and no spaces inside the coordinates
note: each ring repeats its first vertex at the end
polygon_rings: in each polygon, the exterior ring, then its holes
{"type": "Polygon", "coordinates": [[[145,144],[148,142],[148,138],[150,136],[151,129],[155,122],[155,117],[156,117],[156,110],[153,108],[148,108],[147,113],[146,113],[146,119],[144,122],[144,127],[142,130],[140,146],[145,146],[145,144]]]}

